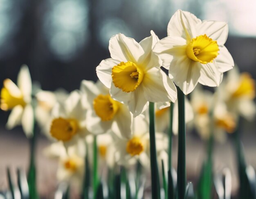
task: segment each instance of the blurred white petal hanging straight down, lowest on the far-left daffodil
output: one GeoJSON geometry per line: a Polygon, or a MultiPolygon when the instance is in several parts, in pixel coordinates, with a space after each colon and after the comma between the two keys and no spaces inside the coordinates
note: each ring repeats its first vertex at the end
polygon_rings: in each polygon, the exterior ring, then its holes
{"type": "Polygon", "coordinates": [[[26,136],[27,137],[33,136],[34,112],[33,112],[33,107],[30,104],[26,105],[24,109],[24,112],[21,118],[21,124],[26,136]]]}

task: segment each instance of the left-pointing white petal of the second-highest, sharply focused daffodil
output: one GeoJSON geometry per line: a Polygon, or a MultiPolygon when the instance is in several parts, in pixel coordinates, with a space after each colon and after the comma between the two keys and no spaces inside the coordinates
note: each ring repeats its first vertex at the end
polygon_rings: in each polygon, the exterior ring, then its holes
{"type": "Polygon", "coordinates": [[[109,58],[102,60],[96,67],[96,73],[101,82],[108,88],[110,88],[112,82],[112,67],[118,65],[120,61],[109,58]]]}

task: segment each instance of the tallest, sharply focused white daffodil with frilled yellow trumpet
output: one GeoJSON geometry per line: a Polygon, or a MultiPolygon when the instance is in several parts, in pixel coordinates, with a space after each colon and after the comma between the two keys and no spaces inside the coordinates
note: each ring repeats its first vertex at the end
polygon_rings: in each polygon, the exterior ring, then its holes
{"type": "Polygon", "coordinates": [[[234,67],[234,60],[224,46],[228,35],[226,22],[201,21],[178,10],[168,23],[167,35],[153,51],[184,94],[192,92],[198,82],[219,86],[223,72],[234,67]]]}

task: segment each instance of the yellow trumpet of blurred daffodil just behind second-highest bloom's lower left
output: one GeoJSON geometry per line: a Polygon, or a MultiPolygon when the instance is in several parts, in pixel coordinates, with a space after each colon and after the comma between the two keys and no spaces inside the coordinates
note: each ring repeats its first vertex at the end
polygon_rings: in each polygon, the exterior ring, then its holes
{"type": "Polygon", "coordinates": [[[102,121],[113,119],[119,109],[120,102],[113,100],[110,95],[98,95],[93,100],[94,111],[102,121]]]}

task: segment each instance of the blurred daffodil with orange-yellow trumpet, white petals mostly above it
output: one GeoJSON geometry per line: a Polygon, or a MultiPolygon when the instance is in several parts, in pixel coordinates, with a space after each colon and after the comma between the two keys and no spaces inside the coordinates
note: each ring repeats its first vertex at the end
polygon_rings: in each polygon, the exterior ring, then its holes
{"type": "Polygon", "coordinates": [[[54,106],[49,133],[54,139],[63,141],[65,146],[76,143],[89,133],[86,128],[86,109],[79,91],[71,92],[63,104],[54,106]]]}

